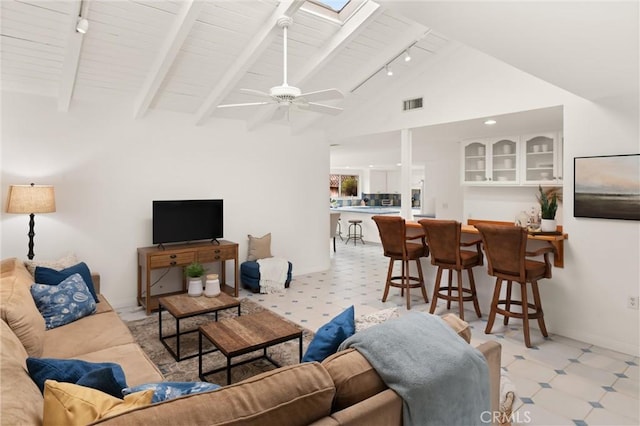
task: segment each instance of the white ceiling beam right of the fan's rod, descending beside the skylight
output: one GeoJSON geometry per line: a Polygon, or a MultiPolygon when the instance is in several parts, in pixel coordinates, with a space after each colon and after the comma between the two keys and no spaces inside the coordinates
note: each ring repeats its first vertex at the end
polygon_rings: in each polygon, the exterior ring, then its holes
{"type": "MultiPolygon", "coordinates": [[[[323,66],[333,59],[340,51],[353,40],[369,22],[382,13],[382,8],[374,3],[365,3],[340,29],[329,39],[322,48],[310,58],[305,66],[299,70],[293,79],[293,85],[303,86],[309,81],[323,66]]],[[[270,118],[271,111],[265,108],[255,114],[247,124],[249,130],[253,130],[270,118]]]]}

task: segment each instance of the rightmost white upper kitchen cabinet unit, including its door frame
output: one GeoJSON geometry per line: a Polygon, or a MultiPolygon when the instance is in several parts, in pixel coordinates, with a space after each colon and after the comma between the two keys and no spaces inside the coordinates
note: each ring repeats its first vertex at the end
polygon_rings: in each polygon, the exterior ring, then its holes
{"type": "Polygon", "coordinates": [[[558,133],[523,136],[522,150],[524,184],[562,184],[562,142],[558,133]]]}

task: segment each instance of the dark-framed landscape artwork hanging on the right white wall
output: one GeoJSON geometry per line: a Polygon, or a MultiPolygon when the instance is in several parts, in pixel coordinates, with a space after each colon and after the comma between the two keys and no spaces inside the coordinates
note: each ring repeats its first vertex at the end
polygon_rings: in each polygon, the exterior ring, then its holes
{"type": "Polygon", "coordinates": [[[574,217],[640,220],[640,154],[573,161],[574,217]]]}

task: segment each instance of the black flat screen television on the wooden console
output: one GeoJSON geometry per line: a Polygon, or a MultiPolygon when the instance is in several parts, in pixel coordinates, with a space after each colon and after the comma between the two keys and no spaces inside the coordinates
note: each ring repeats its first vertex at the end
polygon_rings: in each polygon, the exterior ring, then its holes
{"type": "Polygon", "coordinates": [[[153,201],[153,244],[222,238],[223,200],[153,201]]]}

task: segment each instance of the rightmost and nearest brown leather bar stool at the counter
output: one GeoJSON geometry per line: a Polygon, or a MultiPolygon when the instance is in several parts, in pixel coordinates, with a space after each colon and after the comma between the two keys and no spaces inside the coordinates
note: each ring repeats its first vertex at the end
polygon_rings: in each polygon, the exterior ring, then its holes
{"type": "Polygon", "coordinates": [[[509,318],[520,318],[522,319],[524,343],[530,348],[530,319],[537,319],[540,332],[544,337],[548,336],[540,291],[538,290],[538,280],[551,278],[549,253],[553,251],[553,247],[543,247],[535,252],[527,252],[527,231],[519,226],[478,223],[475,227],[482,236],[489,275],[496,277],[491,312],[484,332],[485,334],[491,333],[496,314],[504,316],[504,325],[509,323],[509,318]],[[527,258],[540,255],[544,255],[543,262],[527,258]],[[505,280],[507,281],[506,298],[500,299],[502,282],[505,280]],[[520,284],[521,300],[513,299],[511,287],[514,282],[520,284]],[[533,303],[529,302],[527,284],[531,284],[533,303]],[[514,311],[513,305],[520,306],[520,309],[514,311]]]}

